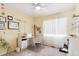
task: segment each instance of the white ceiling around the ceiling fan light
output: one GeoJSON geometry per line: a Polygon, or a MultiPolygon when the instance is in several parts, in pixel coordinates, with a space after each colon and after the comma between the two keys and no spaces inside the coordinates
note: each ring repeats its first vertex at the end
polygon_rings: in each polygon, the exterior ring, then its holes
{"type": "Polygon", "coordinates": [[[41,9],[35,10],[34,3],[7,3],[5,4],[29,16],[45,16],[64,12],[74,8],[73,3],[40,3],[41,9]]]}

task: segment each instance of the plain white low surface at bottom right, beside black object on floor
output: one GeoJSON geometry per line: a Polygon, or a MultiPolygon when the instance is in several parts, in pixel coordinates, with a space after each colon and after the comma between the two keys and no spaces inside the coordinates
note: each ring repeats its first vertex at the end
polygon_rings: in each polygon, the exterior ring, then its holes
{"type": "Polygon", "coordinates": [[[71,56],[79,55],[79,36],[70,37],[69,39],[69,54],[71,56]]]}

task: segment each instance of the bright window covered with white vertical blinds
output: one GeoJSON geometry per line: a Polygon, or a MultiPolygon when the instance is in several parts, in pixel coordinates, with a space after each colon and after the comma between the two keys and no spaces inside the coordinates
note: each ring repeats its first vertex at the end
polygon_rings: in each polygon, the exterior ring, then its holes
{"type": "Polygon", "coordinates": [[[52,20],[43,21],[44,36],[66,36],[67,35],[67,18],[60,17],[52,20]]]}

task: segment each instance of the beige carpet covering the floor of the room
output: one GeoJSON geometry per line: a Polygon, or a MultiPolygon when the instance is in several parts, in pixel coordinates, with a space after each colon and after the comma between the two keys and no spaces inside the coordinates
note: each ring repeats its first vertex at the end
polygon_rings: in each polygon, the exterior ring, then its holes
{"type": "Polygon", "coordinates": [[[29,47],[19,53],[12,52],[7,56],[66,56],[65,53],[59,52],[59,49],[48,46],[29,47]]]}

